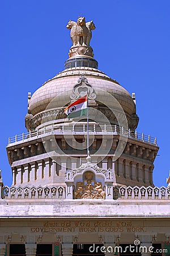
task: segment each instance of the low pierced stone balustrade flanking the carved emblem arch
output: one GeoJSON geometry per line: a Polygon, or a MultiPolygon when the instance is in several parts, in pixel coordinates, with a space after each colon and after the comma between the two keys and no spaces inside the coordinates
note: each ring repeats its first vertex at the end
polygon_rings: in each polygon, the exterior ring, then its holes
{"type": "MultiPolygon", "coordinates": [[[[65,187],[8,187],[2,188],[3,199],[65,199],[65,187]]],[[[170,187],[113,187],[113,200],[170,200],[170,187]]],[[[75,199],[76,200],[76,199],[75,199]]],[[[79,199],[82,200],[82,199],[79,199]]],[[[86,200],[86,199],[83,199],[86,200]]],[[[99,199],[92,199],[99,200],[99,199]]]]}

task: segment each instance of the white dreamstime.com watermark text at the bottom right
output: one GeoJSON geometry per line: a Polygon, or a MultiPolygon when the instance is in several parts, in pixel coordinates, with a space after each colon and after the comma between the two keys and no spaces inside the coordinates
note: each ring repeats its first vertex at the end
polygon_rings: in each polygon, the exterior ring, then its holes
{"type": "Polygon", "coordinates": [[[154,246],[142,246],[139,240],[134,241],[134,245],[128,246],[99,246],[93,243],[92,246],[89,247],[90,253],[167,253],[167,249],[155,249],[154,246]]]}

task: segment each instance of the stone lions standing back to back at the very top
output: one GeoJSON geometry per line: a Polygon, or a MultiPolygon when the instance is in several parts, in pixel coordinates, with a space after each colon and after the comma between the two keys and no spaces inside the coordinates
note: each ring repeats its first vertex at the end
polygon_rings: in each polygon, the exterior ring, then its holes
{"type": "Polygon", "coordinates": [[[71,30],[70,37],[73,46],[90,46],[91,30],[96,28],[92,20],[86,23],[84,17],[79,17],[77,22],[69,20],[66,27],[71,30]]]}

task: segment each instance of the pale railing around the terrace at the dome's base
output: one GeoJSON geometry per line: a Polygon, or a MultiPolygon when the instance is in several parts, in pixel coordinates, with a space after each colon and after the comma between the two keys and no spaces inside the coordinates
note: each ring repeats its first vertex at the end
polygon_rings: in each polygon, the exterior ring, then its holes
{"type": "MultiPolygon", "coordinates": [[[[133,138],[142,142],[147,142],[151,144],[157,145],[156,138],[151,137],[150,135],[146,135],[144,133],[138,133],[137,131],[131,131],[130,129],[124,129],[124,127],[120,127],[118,125],[89,125],[89,132],[94,135],[124,135],[128,138],[133,138]]],[[[29,133],[22,133],[19,135],[15,135],[14,137],[10,137],[8,139],[8,146],[16,142],[25,142],[29,141],[33,138],[41,138],[45,137],[49,134],[67,134],[67,135],[75,135],[75,134],[85,134],[87,133],[87,125],[84,123],[79,124],[62,124],[62,125],[51,125],[46,126],[34,131],[29,131],[29,133]]]]}

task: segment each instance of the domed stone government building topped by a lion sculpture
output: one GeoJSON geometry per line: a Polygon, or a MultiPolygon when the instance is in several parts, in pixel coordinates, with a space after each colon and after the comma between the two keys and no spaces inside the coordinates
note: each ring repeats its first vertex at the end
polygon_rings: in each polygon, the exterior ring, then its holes
{"type": "Polygon", "coordinates": [[[168,255],[170,188],[153,184],[156,138],[136,130],[135,94],[98,70],[94,22],[79,17],[67,28],[65,70],[28,93],[28,133],[8,141],[0,255],[168,255]],[[88,126],[87,116],[64,112],[86,94],[88,126]]]}

